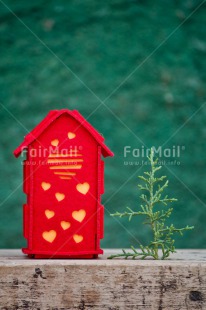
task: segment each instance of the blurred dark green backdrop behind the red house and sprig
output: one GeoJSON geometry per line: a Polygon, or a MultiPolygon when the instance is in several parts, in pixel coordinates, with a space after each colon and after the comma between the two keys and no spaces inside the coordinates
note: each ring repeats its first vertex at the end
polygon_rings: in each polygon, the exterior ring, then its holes
{"type": "Polygon", "coordinates": [[[146,167],[137,163],[145,158],[125,159],[124,146],[179,145],[180,158],[167,158],[162,169],[167,193],[178,198],[171,221],[195,229],[176,245],[204,248],[205,16],[198,0],[0,3],[1,248],[25,245],[22,166],[12,152],[50,109],[62,108],[89,117],[115,153],[106,159],[103,247],[138,246],[135,239],[151,237],[141,218],[109,216],[140,204],[137,176],[146,167]]]}

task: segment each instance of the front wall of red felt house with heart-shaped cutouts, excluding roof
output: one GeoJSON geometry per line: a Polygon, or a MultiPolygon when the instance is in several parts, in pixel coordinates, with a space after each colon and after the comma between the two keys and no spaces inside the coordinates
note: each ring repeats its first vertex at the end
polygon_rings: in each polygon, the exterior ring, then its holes
{"type": "Polygon", "coordinates": [[[63,114],[31,144],[29,164],[28,249],[52,255],[94,252],[99,205],[94,138],[63,114]]]}

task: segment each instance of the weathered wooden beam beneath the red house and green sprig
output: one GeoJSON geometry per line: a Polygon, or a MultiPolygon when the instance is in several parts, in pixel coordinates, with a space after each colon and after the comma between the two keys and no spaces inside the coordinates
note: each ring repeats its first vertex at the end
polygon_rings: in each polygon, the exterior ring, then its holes
{"type": "Polygon", "coordinates": [[[0,309],[206,309],[206,250],[170,260],[34,260],[0,251],[0,309]]]}

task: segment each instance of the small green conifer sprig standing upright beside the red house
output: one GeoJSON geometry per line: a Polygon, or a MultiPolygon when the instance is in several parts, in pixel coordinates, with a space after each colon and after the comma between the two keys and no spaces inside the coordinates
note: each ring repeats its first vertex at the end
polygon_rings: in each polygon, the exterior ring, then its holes
{"type": "Polygon", "coordinates": [[[167,210],[158,210],[157,205],[162,204],[167,206],[168,203],[177,201],[175,198],[168,198],[168,196],[162,197],[163,191],[168,186],[168,180],[166,176],[156,177],[156,172],[162,167],[158,166],[158,158],[154,160],[154,150],[151,149],[148,156],[148,160],[151,164],[150,172],[144,172],[144,176],[139,176],[139,178],[144,182],[143,185],[138,185],[140,190],[144,192],[140,196],[143,204],[140,206],[140,211],[133,211],[127,207],[127,211],[120,213],[116,212],[111,214],[111,216],[123,217],[127,216],[129,221],[132,220],[134,216],[143,215],[146,217],[145,225],[149,225],[152,233],[153,240],[146,246],[140,244],[140,249],[137,250],[131,246],[132,252],[127,252],[122,250],[123,253],[111,255],[109,259],[116,257],[127,258],[141,258],[152,257],[153,259],[165,259],[169,257],[170,253],[175,252],[175,240],[173,235],[179,233],[183,235],[186,230],[193,229],[194,227],[186,226],[184,228],[176,228],[173,224],[167,226],[165,224],[166,220],[170,217],[173,208],[167,210]],[[162,183],[163,182],[163,183],[162,183]],[[160,185],[160,184],[161,185],[160,185]]]}

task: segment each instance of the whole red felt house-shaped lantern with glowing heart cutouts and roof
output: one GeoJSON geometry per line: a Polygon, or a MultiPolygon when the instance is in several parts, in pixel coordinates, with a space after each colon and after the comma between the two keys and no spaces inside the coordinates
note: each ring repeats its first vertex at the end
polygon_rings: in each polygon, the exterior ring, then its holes
{"type": "Polygon", "coordinates": [[[14,151],[24,160],[24,253],[36,258],[102,254],[104,157],[113,153],[78,111],[54,110],[14,151]]]}

